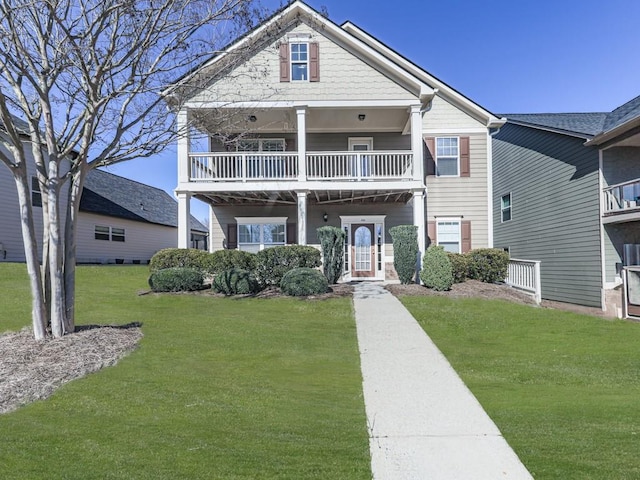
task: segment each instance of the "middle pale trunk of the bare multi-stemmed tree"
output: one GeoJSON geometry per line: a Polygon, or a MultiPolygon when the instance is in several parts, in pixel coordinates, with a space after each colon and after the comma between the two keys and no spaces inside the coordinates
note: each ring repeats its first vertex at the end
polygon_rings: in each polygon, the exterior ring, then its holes
{"type": "Polygon", "coordinates": [[[62,271],[63,242],[60,238],[60,179],[59,160],[49,162],[49,270],[51,275],[51,333],[65,334],[64,272],[62,271]]]}

